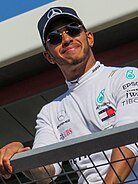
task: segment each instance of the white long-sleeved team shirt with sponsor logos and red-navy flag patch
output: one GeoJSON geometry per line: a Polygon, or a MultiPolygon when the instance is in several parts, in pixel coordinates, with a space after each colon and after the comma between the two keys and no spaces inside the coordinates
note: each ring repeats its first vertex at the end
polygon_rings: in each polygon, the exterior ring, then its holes
{"type": "MultiPolygon", "coordinates": [[[[83,76],[66,83],[68,91],[45,105],[38,114],[33,148],[138,121],[137,68],[106,67],[97,61],[83,76]]],[[[138,154],[135,145],[127,147],[138,154]]],[[[109,160],[111,153],[112,150],[106,151],[109,160]]],[[[101,152],[92,154],[91,158],[97,165],[107,163],[101,152]]],[[[88,156],[70,163],[75,170],[76,164],[80,169],[92,165],[88,156]]],[[[58,173],[58,166],[55,167],[58,173]]],[[[98,167],[103,178],[108,167],[98,167]]],[[[82,172],[89,183],[102,183],[94,168],[82,172]]],[[[85,184],[82,174],[78,175],[78,183],[85,184]]]]}

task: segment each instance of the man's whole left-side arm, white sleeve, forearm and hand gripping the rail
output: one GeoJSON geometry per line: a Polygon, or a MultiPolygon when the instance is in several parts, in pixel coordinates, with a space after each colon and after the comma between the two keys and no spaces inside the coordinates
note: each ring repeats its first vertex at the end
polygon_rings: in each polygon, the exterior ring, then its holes
{"type": "MultiPolygon", "coordinates": [[[[42,147],[48,144],[53,144],[57,142],[57,138],[53,132],[53,127],[51,126],[48,119],[45,117],[47,112],[43,109],[38,115],[37,126],[36,126],[36,135],[33,144],[33,149],[42,147]],[[46,141],[47,140],[47,141],[46,141]]],[[[11,177],[13,172],[13,168],[10,164],[10,159],[15,153],[23,152],[30,150],[29,147],[24,148],[23,144],[20,142],[13,142],[7,144],[3,148],[0,149],[0,175],[2,175],[5,179],[11,177]]],[[[31,169],[30,171],[25,171],[24,174],[31,180],[40,180],[47,176],[54,176],[55,173],[58,174],[61,172],[61,168],[59,166],[55,166],[56,164],[51,164],[46,166],[48,173],[46,175],[46,170],[44,167],[31,169]]],[[[49,183],[51,180],[45,180],[44,183],[49,183]]],[[[42,181],[41,181],[42,183],[42,181]]]]}

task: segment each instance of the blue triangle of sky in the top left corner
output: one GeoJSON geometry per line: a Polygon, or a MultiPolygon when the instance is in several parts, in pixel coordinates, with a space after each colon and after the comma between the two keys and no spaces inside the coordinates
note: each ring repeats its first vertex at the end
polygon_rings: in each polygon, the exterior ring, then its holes
{"type": "Polygon", "coordinates": [[[54,0],[0,0],[0,22],[54,0]]]}

